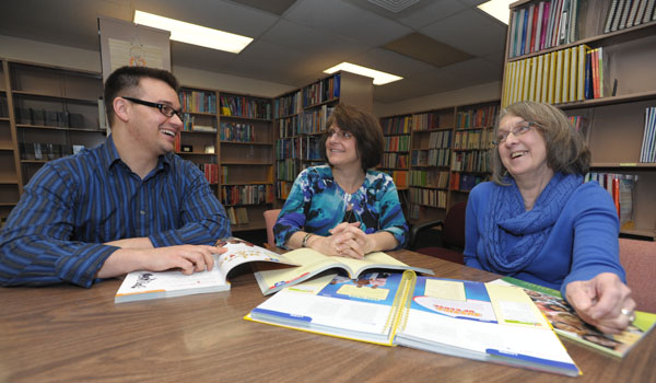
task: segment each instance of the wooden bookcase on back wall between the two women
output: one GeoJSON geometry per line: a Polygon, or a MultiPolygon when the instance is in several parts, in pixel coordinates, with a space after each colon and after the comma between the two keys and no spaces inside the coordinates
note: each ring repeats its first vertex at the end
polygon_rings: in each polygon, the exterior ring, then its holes
{"type": "Polygon", "coordinates": [[[489,149],[499,101],[412,114],[408,221],[443,219],[490,177],[489,149]]]}

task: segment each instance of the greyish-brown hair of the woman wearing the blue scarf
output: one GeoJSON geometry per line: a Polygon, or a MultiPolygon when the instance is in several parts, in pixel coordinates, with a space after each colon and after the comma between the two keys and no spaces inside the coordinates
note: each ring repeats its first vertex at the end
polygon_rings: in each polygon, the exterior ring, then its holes
{"type": "MultiPolygon", "coordinates": [[[[583,135],[570,123],[567,116],[551,104],[524,101],[515,103],[499,115],[499,123],[494,135],[499,131],[501,120],[507,116],[522,117],[528,123],[537,125],[537,131],[544,138],[547,146],[547,164],[555,173],[585,175],[590,169],[590,151],[585,143],[583,135]]],[[[503,181],[507,170],[501,162],[499,148],[492,147],[492,179],[500,185],[507,185],[503,181]]]]}

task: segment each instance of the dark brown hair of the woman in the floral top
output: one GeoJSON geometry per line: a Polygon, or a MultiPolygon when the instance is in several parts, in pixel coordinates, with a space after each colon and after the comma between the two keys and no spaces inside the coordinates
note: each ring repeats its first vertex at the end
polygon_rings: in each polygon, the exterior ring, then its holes
{"type": "Polygon", "coordinates": [[[385,143],[383,128],[380,127],[380,123],[378,123],[378,118],[371,113],[340,103],[335,107],[335,111],[332,111],[332,114],[326,121],[326,134],[321,136],[319,150],[326,163],[328,163],[326,141],[328,140],[328,131],[332,124],[337,125],[340,130],[345,130],[355,137],[355,149],[358,150],[358,158],[362,163],[363,171],[366,172],[383,161],[385,143]]]}

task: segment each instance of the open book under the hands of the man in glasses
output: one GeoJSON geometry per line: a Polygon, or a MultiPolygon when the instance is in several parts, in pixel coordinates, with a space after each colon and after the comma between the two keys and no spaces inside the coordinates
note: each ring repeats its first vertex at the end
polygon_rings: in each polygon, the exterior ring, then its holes
{"type": "Polygon", "coordinates": [[[297,266],[282,255],[235,237],[219,240],[216,246],[226,247],[227,252],[213,255],[214,267],[211,271],[194,272],[189,276],[179,270],[132,271],[124,279],[116,292],[114,302],[121,303],[230,290],[227,275],[235,267],[247,263],[274,263],[297,266]]]}

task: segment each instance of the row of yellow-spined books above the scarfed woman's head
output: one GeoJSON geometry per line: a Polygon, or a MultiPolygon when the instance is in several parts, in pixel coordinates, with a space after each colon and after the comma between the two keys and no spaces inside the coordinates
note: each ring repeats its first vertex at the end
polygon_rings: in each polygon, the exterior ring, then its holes
{"type": "Polygon", "coordinates": [[[604,48],[582,44],[507,63],[502,104],[569,103],[605,96],[604,48]]]}

